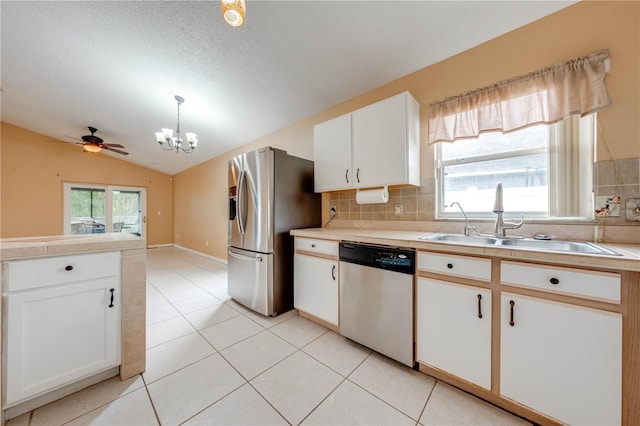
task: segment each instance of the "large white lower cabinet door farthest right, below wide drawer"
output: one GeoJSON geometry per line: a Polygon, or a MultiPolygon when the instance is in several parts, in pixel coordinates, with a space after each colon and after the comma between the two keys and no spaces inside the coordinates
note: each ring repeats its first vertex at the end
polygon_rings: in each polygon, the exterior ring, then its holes
{"type": "Polygon", "coordinates": [[[620,424],[620,314],[509,293],[501,299],[500,393],[561,422],[620,424]]]}

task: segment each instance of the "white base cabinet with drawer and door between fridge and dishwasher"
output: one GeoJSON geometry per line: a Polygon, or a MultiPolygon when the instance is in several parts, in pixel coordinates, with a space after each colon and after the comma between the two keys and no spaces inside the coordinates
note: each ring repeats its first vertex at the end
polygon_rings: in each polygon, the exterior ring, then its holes
{"type": "Polygon", "coordinates": [[[295,239],[293,257],[293,305],[311,319],[339,324],[338,243],[309,238],[295,239]]]}

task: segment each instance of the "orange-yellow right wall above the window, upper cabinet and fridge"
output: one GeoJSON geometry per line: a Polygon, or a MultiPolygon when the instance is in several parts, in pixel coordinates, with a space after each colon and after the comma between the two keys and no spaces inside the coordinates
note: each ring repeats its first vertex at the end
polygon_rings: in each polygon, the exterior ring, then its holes
{"type": "MultiPolygon", "coordinates": [[[[430,102],[602,48],[611,50],[612,60],[613,106],[599,114],[604,135],[616,158],[640,157],[639,21],[637,1],[581,2],[186,170],[174,180],[176,243],[226,258],[227,161],[238,153],[270,145],[312,159],[315,124],[409,90],[421,105],[423,177],[433,177],[433,149],[425,143],[430,102]]],[[[598,160],[611,159],[600,140],[598,160]]],[[[325,195],[325,217],[327,201],[325,195]]]]}

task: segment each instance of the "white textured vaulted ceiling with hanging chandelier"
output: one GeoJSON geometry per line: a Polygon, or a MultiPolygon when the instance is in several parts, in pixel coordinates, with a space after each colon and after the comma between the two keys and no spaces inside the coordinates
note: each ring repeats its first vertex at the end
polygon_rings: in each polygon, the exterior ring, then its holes
{"type": "Polygon", "coordinates": [[[3,0],[2,120],[70,142],[94,126],[173,175],[572,3],[249,0],[232,28],[217,1],[3,0]],[[154,138],[176,94],[191,155],[154,138]]]}

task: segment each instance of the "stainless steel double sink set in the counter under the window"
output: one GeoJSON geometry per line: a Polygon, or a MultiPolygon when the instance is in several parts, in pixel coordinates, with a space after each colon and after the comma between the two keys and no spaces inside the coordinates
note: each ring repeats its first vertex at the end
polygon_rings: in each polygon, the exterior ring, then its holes
{"type": "Polygon", "coordinates": [[[530,248],[544,251],[560,251],[565,253],[600,254],[607,256],[621,256],[608,248],[584,241],[536,240],[532,238],[498,238],[491,236],[475,236],[462,234],[432,234],[419,237],[422,241],[442,241],[481,246],[502,246],[530,248]]]}

